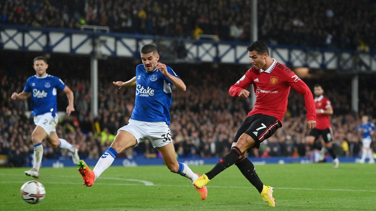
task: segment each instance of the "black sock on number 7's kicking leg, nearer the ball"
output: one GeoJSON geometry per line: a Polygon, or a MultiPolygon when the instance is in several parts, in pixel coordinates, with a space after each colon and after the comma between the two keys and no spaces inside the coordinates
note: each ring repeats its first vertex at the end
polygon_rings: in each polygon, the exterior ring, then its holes
{"type": "Polygon", "coordinates": [[[221,173],[224,169],[232,166],[241,155],[241,151],[236,146],[233,146],[230,149],[230,152],[227,153],[227,155],[224,155],[217,164],[215,164],[214,168],[210,170],[208,173],[205,173],[206,176],[208,176],[208,179],[212,179],[217,174],[221,173]]]}

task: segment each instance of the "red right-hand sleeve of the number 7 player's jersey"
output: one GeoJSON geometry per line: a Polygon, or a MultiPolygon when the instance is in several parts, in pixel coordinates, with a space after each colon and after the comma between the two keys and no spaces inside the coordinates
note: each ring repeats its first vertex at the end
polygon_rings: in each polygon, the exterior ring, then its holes
{"type": "Polygon", "coordinates": [[[305,106],[307,109],[307,121],[316,120],[316,107],[311,90],[309,90],[307,84],[305,84],[294,72],[290,72],[287,75],[287,84],[304,98],[305,106]]]}

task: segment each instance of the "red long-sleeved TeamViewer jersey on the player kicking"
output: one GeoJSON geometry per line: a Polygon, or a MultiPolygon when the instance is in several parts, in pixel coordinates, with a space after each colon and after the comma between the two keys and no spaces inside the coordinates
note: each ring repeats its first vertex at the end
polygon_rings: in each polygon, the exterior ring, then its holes
{"type": "Polygon", "coordinates": [[[307,109],[307,121],[316,119],[316,110],[311,90],[297,75],[285,65],[276,62],[267,70],[257,70],[254,66],[240,80],[230,87],[229,94],[239,96],[241,90],[250,84],[256,94],[255,107],[248,116],[254,114],[270,115],[277,118],[281,124],[287,110],[287,98],[290,87],[303,95],[307,109]]]}

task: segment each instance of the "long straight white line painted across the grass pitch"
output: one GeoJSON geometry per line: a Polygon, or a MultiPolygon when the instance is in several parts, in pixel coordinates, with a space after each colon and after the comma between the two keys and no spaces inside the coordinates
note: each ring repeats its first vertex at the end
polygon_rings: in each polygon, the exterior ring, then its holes
{"type": "MultiPolygon", "coordinates": [[[[0,174],[1,175],[1,174],[0,174]]],[[[104,178],[102,178],[104,179],[104,178]]],[[[109,178],[108,178],[109,179],[109,178]]],[[[113,178],[111,178],[113,179],[113,178]]],[[[121,178],[118,178],[119,180],[121,178]]],[[[22,181],[23,182],[23,181],[22,181]]],[[[8,182],[8,181],[1,181],[0,183],[22,183],[22,182],[8,182]]],[[[147,182],[147,181],[146,181],[147,182]]],[[[70,185],[82,185],[82,183],[78,182],[43,182],[45,184],[70,184],[70,185]]],[[[152,183],[152,182],[150,182],[152,183]]],[[[124,184],[124,183],[100,183],[97,182],[96,185],[115,185],[115,186],[141,186],[141,184],[124,184]]],[[[146,185],[146,184],[145,184],[146,185]]],[[[156,187],[192,187],[192,185],[161,185],[161,184],[153,184],[147,186],[156,186],[156,187]]],[[[250,188],[243,187],[243,186],[208,186],[209,188],[250,188]]],[[[316,191],[353,191],[353,192],[376,192],[376,190],[353,190],[353,189],[330,189],[330,188],[288,188],[288,187],[276,187],[274,189],[285,189],[285,190],[316,190],[316,191]]]]}

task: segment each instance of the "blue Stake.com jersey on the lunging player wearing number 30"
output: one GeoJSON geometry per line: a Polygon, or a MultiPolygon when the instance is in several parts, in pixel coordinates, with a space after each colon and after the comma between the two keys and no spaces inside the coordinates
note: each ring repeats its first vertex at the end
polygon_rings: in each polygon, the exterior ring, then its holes
{"type": "MultiPolygon", "coordinates": [[[[167,66],[167,71],[179,78],[167,66]]],[[[166,122],[170,124],[172,82],[156,69],[147,72],[144,65],[136,67],[136,101],[131,119],[143,122],[166,122]]]]}

